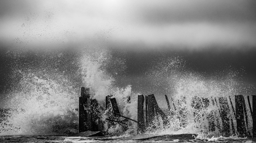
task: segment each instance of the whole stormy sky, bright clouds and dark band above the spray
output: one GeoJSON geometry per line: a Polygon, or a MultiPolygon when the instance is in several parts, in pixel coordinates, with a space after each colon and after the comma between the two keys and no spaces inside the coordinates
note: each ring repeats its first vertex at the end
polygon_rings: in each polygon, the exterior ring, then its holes
{"type": "Polygon", "coordinates": [[[135,79],[145,79],[159,56],[181,56],[206,77],[243,71],[243,80],[256,86],[255,7],[254,0],[1,0],[1,91],[10,72],[4,52],[17,48],[118,51],[127,66],[116,77],[121,87],[140,85],[135,79]]]}

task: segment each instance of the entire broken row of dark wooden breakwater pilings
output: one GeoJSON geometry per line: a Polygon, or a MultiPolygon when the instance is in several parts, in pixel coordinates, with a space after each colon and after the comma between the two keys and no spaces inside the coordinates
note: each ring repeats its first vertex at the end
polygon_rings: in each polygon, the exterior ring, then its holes
{"type": "MultiPolygon", "coordinates": [[[[195,109],[194,117],[195,122],[198,115],[197,111],[202,109],[207,109],[210,106],[216,108],[216,111],[210,111],[206,113],[207,120],[209,123],[209,132],[215,131],[216,129],[223,133],[225,136],[229,136],[231,134],[237,134],[239,136],[252,136],[256,138],[256,95],[252,96],[252,107],[250,102],[250,96],[247,96],[247,101],[250,109],[250,114],[252,117],[252,129],[249,127],[249,119],[247,114],[245,99],[243,95],[235,95],[235,106],[229,96],[213,98],[211,97],[211,103],[208,98],[200,98],[194,96],[191,101],[192,108],[195,109]],[[234,108],[235,107],[235,108],[234,108]],[[218,117],[218,114],[220,117],[218,117]],[[233,120],[235,119],[235,120],[233,120]],[[220,124],[221,123],[221,124],[220,124]],[[236,128],[235,128],[236,124],[236,128]],[[252,131],[252,132],[250,132],[252,131]],[[251,135],[252,133],[252,135],[251,135]]],[[[171,110],[170,102],[168,100],[167,95],[165,95],[167,107],[171,110]]],[[[181,102],[185,102],[185,100],[178,101],[178,108],[176,108],[175,103],[173,102],[172,97],[171,103],[173,104],[173,110],[180,110],[178,113],[183,114],[182,107],[180,107],[181,102]]],[[[185,97],[183,97],[185,99],[185,97]]],[[[130,101],[130,97],[127,99],[127,102],[130,101]]],[[[110,112],[111,115],[106,118],[105,121],[102,121],[101,115],[98,110],[98,102],[96,99],[90,98],[90,89],[81,88],[81,97],[79,97],[79,132],[85,131],[103,131],[103,123],[109,122],[109,126],[114,123],[120,124],[121,126],[127,128],[126,123],[130,120],[132,122],[137,123],[137,133],[144,133],[146,130],[154,130],[155,127],[153,125],[153,121],[155,117],[161,117],[163,121],[163,128],[168,126],[169,120],[162,109],[159,108],[158,103],[155,99],[154,94],[146,95],[138,95],[138,119],[133,120],[128,117],[125,117],[120,114],[118,109],[118,104],[115,98],[108,95],[106,96],[106,110],[112,107],[110,112]],[[144,107],[145,103],[145,107],[144,107]],[[145,109],[145,110],[144,110],[145,109]],[[145,111],[145,113],[144,113],[145,111]]],[[[179,118],[181,122],[184,120],[182,116],[179,118]]],[[[180,124],[180,126],[184,126],[184,124],[180,124]]]]}

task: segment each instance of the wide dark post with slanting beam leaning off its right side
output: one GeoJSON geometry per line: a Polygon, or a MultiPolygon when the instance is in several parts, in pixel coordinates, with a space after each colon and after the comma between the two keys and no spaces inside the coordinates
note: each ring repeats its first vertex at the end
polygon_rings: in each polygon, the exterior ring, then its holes
{"type": "Polygon", "coordinates": [[[154,117],[155,117],[153,96],[154,94],[148,95],[148,125],[149,126],[153,124],[154,117]]]}

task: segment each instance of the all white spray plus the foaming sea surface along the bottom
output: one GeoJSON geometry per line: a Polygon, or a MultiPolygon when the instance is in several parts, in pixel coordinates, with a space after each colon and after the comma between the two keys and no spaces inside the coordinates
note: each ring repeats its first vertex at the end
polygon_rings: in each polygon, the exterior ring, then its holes
{"type": "MultiPolygon", "coordinates": [[[[226,70],[205,78],[204,75],[189,70],[186,61],[179,56],[160,57],[161,62],[152,64],[151,71],[145,73],[152,81],[149,87],[155,94],[158,106],[168,117],[168,126],[163,128],[161,118],[156,117],[154,130],[149,127],[145,136],[155,136],[146,140],[135,140],[137,123],[128,122],[127,129],[119,124],[104,123],[107,137],[72,137],[78,132],[78,107],[81,87],[90,88],[91,97],[97,99],[102,120],[109,116],[105,111],[105,98],[113,95],[121,115],[137,120],[137,97],[147,92],[133,85],[119,87],[116,76],[122,75],[127,65],[125,57],[114,57],[110,50],[87,50],[80,52],[7,51],[11,59],[12,77],[10,88],[3,100],[0,118],[0,142],[254,142],[250,137],[235,134],[225,136],[218,128],[209,132],[207,114],[218,108],[210,100],[233,95],[250,95],[250,85],[241,81],[241,73],[226,70]],[[33,59],[34,56],[35,59],[33,59]],[[74,56],[75,55],[75,56],[74,56]],[[31,57],[28,59],[28,57],[31,57]],[[66,57],[71,58],[66,58],[66,57]],[[37,59],[38,58],[38,59],[37,59]],[[29,62],[24,62],[28,60],[29,62]],[[40,61],[40,62],[38,62],[40,61]],[[22,64],[23,63],[23,64],[22,64]],[[24,64],[28,63],[28,64],[24,64]],[[221,78],[219,78],[221,75],[221,78]],[[168,110],[164,94],[172,97],[177,110],[171,104],[168,110]],[[131,101],[127,102],[127,98],[131,101]],[[192,106],[193,98],[208,98],[209,107],[201,110],[192,106]],[[103,107],[103,108],[102,108],[103,107]],[[182,114],[181,114],[182,112],[182,114]],[[196,117],[195,117],[196,113],[196,117]],[[182,118],[182,119],[181,119],[182,118]],[[196,118],[196,119],[195,119],[196,118]],[[193,139],[168,138],[170,135],[195,134],[193,139]]],[[[217,100],[218,101],[218,100],[217,100]]],[[[230,102],[228,101],[229,107],[230,102]]],[[[246,102],[248,107],[248,102],[246,102]]],[[[249,108],[247,108],[248,110],[249,108]]],[[[230,108],[230,111],[232,109],[230,108]]],[[[249,113],[249,110],[247,111],[249,113]]],[[[236,122],[233,113],[229,118],[236,122]]],[[[252,132],[252,117],[248,114],[248,131],[252,132]]],[[[216,121],[215,121],[216,122],[216,121]]],[[[219,121],[222,125],[221,120],[219,121]]]]}

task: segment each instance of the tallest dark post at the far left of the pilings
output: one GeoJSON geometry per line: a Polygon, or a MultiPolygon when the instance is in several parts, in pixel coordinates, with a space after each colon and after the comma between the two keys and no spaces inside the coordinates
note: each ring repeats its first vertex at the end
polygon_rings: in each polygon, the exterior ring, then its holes
{"type": "Polygon", "coordinates": [[[90,98],[90,89],[82,87],[79,97],[79,132],[85,132],[87,128],[87,98],[90,98]]]}

